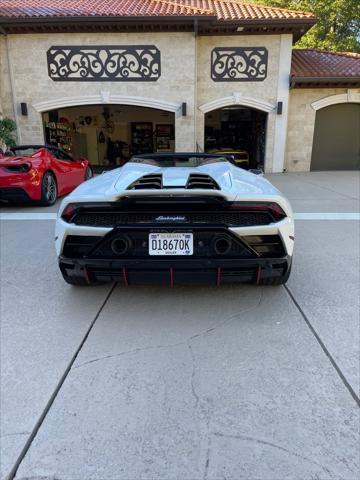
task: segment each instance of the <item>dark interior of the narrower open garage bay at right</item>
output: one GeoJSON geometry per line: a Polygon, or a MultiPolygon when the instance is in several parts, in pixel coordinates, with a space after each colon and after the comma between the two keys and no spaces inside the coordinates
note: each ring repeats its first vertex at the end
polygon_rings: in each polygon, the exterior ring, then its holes
{"type": "Polygon", "coordinates": [[[230,106],[205,115],[205,151],[247,152],[249,168],[264,169],[267,113],[230,106]]]}

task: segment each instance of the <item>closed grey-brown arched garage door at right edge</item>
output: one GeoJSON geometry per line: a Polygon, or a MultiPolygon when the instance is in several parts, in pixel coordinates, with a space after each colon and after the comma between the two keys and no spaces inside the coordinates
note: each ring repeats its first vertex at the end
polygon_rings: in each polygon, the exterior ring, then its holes
{"type": "Polygon", "coordinates": [[[331,105],[316,112],[311,170],[360,168],[360,105],[331,105]]]}

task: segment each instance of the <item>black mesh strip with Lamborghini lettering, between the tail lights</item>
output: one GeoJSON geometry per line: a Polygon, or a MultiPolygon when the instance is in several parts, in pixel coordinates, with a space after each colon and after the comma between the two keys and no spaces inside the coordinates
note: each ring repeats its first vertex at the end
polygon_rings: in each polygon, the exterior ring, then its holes
{"type": "MultiPolygon", "coordinates": [[[[181,225],[206,224],[230,227],[269,225],[273,222],[266,212],[79,212],[72,219],[76,225],[115,227],[117,225],[164,224],[161,217],[184,217],[181,225]]],[[[170,221],[171,223],[171,221],[170,221]]]]}

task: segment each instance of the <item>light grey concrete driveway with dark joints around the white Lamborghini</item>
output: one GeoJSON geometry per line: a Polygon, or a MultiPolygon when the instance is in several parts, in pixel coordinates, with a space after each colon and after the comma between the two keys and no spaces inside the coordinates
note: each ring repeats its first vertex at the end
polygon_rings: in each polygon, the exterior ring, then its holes
{"type": "Polygon", "coordinates": [[[286,287],[73,288],[57,207],[2,208],[1,478],[359,478],[359,175],[269,179],[286,287]]]}

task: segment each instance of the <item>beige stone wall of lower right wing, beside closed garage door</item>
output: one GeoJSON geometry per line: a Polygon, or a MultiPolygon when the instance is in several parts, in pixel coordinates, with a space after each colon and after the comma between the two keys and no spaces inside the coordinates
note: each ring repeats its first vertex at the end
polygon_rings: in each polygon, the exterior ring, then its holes
{"type": "MultiPolygon", "coordinates": [[[[351,89],[360,92],[360,89],[351,89]]],[[[311,104],[330,95],[346,93],[345,88],[294,88],[290,92],[286,164],[289,172],[310,170],[316,110],[311,104]]]]}

